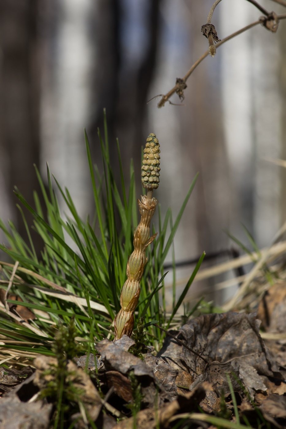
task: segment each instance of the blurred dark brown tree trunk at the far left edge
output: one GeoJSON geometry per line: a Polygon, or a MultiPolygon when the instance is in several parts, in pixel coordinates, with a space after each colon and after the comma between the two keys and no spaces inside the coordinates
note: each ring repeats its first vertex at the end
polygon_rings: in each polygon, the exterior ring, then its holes
{"type": "MultiPolygon", "coordinates": [[[[12,197],[16,185],[33,204],[39,165],[40,60],[37,31],[38,1],[2,0],[0,3],[0,150],[6,160],[5,185],[12,197]]],[[[20,212],[18,231],[26,236],[20,212]]],[[[27,215],[28,225],[31,217],[27,215]]],[[[34,234],[36,248],[40,237],[34,234]]]]}

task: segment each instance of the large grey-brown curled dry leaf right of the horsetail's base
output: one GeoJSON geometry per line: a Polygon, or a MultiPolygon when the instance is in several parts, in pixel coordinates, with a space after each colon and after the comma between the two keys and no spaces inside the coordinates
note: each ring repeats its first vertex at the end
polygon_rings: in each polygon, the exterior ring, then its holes
{"type": "Polygon", "coordinates": [[[207,379],[218,384],[218,389],[225,389],[225,394],[229,392],[225,371],[240,374],[250,392],[258,386],[264,389],[260,375],[276,378],[282,378],[282,375],[259,335],[259,324],[255,313],[228,312],[205,314],[190,320],[179,331],[171,331],[210,362],[206,372],[203,360],[170,337],[165,339],[156,359],[158,362],[164,360],[165,364],[178,371],[189,372],[195,385],[199,376],[200,382],[207,379]],[[256,372],[259,375],[254,375],[256,372]]]}

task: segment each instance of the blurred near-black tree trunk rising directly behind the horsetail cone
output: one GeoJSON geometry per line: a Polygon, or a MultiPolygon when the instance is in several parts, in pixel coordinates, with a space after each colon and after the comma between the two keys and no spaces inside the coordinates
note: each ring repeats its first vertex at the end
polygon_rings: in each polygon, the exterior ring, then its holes
{"type": "MultiPolygon", "coordinates": [[[[95,49],[100,63],[97,65],[94,82],[94,105],[97,107],[90,127],[91,139],[93,146],[98,148],[97,127],[102,133],[103,108],[106,107],[111,163],[115,174],[118,177],[116,137],[119,137],[125,179],[128,183],[130,158],[133,158],[138,177],[138,191],[139,186],[141,189],[141,146],[146,139],[145,134],[151,132],[144,130],[144,125],[147,94],[156,64],[160,1],[148,0],[143,6],[148,9],[144,23],[148,46],[138,66],[124,60],[124,48],[120,43],[120,37],[126,11],[123,10],[122,4],[118,0],[99,0],[96,8],[95,49]]],[[[95,158],[98,159],[99,156],[99,149],[95,149],[95,158]]]]}

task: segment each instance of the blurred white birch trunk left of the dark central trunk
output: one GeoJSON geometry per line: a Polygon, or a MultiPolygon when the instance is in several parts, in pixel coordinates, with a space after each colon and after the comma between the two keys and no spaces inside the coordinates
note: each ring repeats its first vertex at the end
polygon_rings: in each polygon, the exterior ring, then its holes
{"type": "MultiPolygon", "coordinates": [[[[43,77],[41,170],[46,177],[48,162],[61,186],[70,190],[79,215],[85,217],[91,193],[83,130],[93,95],[89,20],[94,2],[61,0],[59,8],[56,51],[49,51],[54,58],[43,77]]],[[[62,199],[60,204],[63,208],[62,199]]]]}

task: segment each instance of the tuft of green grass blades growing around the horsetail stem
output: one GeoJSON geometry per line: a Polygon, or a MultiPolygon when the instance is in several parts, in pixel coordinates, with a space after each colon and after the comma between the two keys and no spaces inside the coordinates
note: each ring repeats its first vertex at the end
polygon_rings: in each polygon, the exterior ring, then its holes
{"type": "MultiPolygon", "coordinates": [[[[138,207],[133,164],[131,161],[130,185],[127,187],[118,142],[119,184],[114,178],[110,165],[106,115],[104,116],[104,138],[99,131],[98,137],[102,154],[102,175],[99,173],[99,168],[93,164],[88,136],[85,132],[87,165],[95,205],[92,216],[88,216],[86,220],[80,218],[69,190],[67,187],[64,189],[61,187],[56,178],[51,175],[47,165],[47,188],[35,166],[44,206],[40,204],[40,198],[36,192],[32,207],[21,192],[18,189],[15,190],[21,205],[33,216],[33,229],[43,240],[40,257],[35,252],[27,222],[25,225],[29,239],[25,242],[12,221],[9,221],[9,225],[6,226],[0,220],[0,228],[8,242],[6,246],[0,245],[0,249],[12,262],[0,262],[1,287],[7,289],[14,263],[18,261],[19,266],[13,278],[10,293],[20,296],[23,301],[21,305],[33,310],[37,316],[35,320],[23,323],[20,317],[17,319],[15,314],[7,311],[0,303],[0,334],[4,333],[9,339],[16,338],[23,342],[23,344],[1,346],[4,357],[9,356],[9,350],[18,350],[17,353],[21,354],[22,361],[25,357],[32,358],[35,353],[55,354],[50,342],[54,338],[55,326],[58,323],[68,326],[72,317],[78,341],[86,347],[90,344],[88,346],[90,352],[94,350],[94,342],[106,337],[114,338],[113,320],[119,310],[120,293],[126,280],[128,255],[133,250],[138,207]],[[55,187],[67,206],[67,215],[61,215],[55,187]],[[31,346],[28,342],[36,344],[31,346]]],[[[140,177],[140,172],[137,175],[140,177]]],[[[158,216],[159,234],[146,251],[148,262],[140,284],[141,293],[135,311],[134,329],[140,317],[143,318],[143,324],[154,319],[158,320],[161,326],[171,327],[177,323],[174,321],[177,310],[195,278],[203,257],[177,302],[175,290],[173,290],[173,308],[169,319],[164,311],[164,277],[167,273],[164,274],[163,266],[197,177],[198,175],[192,181],[174,221],[170,208],[162,218],[160,206],[158,206],[155,216],[158,216]],[[159,298],[159,290],[162,298],[159,298]]],[[[18,208],[25,221],[24,211],[20,206],[18,208]]],[[[173,289],[174,287],[175,280],[173,289]]],[[[12,300],[9,302],[15,304],[12,300]]],[[[147,326],[146,345],[153,345],[156,350],[159,350],[164,335],[164,332],[154,325],[147,326]]],[[[0,354],[0,361],[1,359],[0,354]]]]}

